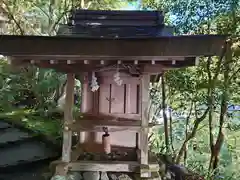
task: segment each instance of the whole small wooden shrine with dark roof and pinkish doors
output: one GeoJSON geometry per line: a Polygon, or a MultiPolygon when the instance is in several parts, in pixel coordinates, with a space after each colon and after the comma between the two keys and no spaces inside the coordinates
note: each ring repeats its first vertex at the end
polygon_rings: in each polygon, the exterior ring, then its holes
{"type": "MultiPolygon", "coordinates": [[[[0,36],[13,66],[32,64],[67,74],[62,158],[67,171],[159,170],[148,152],[149,84],[162,72],[221,56],[226,36],[174,36],[159,11],[74,10],[57,36],[0,36]],[[74,79],[82,83],[81,117],[73,117],[74,79]],[[73,147],[72,134],[80,134],[73,147]],[[98,154],[93,160],[84,153],[98,154]]],[[[65,173],[66,173],[65,172],[65,173]]],[[[63,173],[63,172],[61,172],[63,173]]]]}

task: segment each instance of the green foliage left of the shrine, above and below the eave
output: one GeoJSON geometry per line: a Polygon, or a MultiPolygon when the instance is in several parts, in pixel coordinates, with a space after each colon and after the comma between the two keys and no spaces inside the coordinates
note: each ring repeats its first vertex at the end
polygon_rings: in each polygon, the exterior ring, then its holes
{"type": "MultiPolygon", "coordinates": [[[[68,14],[74,8],[118,9],[128,1],[123,0],[2,0],[0,12],[8,17],[6,34],[53,36],[59,25],[66,24],[68,14]]],[[[11,67],[0,57],[0,112],[1,117],[23,123],[24,126],[42,133],[59,136],[60,124],[56,119],[63,116],[52,112],[64,98],[66,75],[50,69],[33,66],[11,67]],[[16,112],[21,109],[23,113],[16,112]],[[28,112],[31,109],[31,113],[28,112]],[[34,112],[34,113],[33,113],[34,112]],[[37,113],[36,113],[37,112],[37,113]],[[52,116],[52,117],[51,117],[52,116]]],[[[80,84],[76,79],[76,95],[80,84]]],[[[76,99],[75,99],[76,100],[76,99]]],[[[77,107],[79,110],[79,97],[77,107]]],[[[61,106],[61,105],[60,105],[61,106]]]]}

